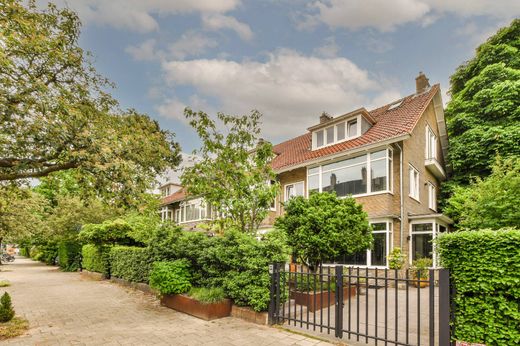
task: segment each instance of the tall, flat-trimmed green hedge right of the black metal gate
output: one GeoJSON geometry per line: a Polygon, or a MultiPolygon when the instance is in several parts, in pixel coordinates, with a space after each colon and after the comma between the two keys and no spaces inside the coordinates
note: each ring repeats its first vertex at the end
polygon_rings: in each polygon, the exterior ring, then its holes
{"type": "Polygon", "coordinates": [[[455,339],[520,344],[520,230],[445,234],[441,264],[456,288],[455,339]]]}

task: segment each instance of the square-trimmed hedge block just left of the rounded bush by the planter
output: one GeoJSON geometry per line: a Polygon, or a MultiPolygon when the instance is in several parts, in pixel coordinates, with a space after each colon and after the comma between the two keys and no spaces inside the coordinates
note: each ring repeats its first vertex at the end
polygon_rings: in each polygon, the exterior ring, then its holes
{"type": "Polygon", "coordinates": [[[110,275],[131,282],[148,283],[152,259],[147,248],[114,246],[110,250],[110,275]]]}

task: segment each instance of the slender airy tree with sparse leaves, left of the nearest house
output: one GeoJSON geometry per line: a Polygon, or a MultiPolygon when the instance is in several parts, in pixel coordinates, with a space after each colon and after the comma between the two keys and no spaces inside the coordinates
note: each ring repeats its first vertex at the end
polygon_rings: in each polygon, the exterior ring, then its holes
{"type": "Polygon", "coordinates": [[[197,131],[202,148],[196,152],[201,159],[182,174],[182,185],[190,195],[202,196],[222,216],[218,220],[221,228],[256,233],[278,189],[277,183],[271,184],[275,179],[270,166],[272,145],[258,139],[261,114],[218,113],[218,120],[228,128],[225,134],[204,112],[186,109],[185,116],[197,131]]]}

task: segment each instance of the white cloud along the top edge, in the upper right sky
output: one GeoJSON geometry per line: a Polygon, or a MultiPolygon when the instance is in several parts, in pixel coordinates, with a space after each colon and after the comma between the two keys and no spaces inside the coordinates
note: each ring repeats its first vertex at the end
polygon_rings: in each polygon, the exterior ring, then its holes
{"type": "Polygon", "coordinates": [[[520,15],[518,0],[318,0],[298,22],[298,28],[312,28],[322,22],[331,28],[357,30],[373,27],[391,31],[397,26],[417,22],[432,24],[446,14],[460,17],[488,16],[512,19],[520,15]]]}

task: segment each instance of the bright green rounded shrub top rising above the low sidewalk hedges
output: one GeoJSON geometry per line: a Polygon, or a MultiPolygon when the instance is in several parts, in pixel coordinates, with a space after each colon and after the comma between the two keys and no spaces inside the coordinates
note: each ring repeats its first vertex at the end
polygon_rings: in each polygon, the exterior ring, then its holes
{"type": "Polygon", "coordinates": [[[126,244],[131,242],[132,227],[122,219],[109,220],[101,224],[86,224],[79,233],[80,241],[90,244],[126,244]]]}

